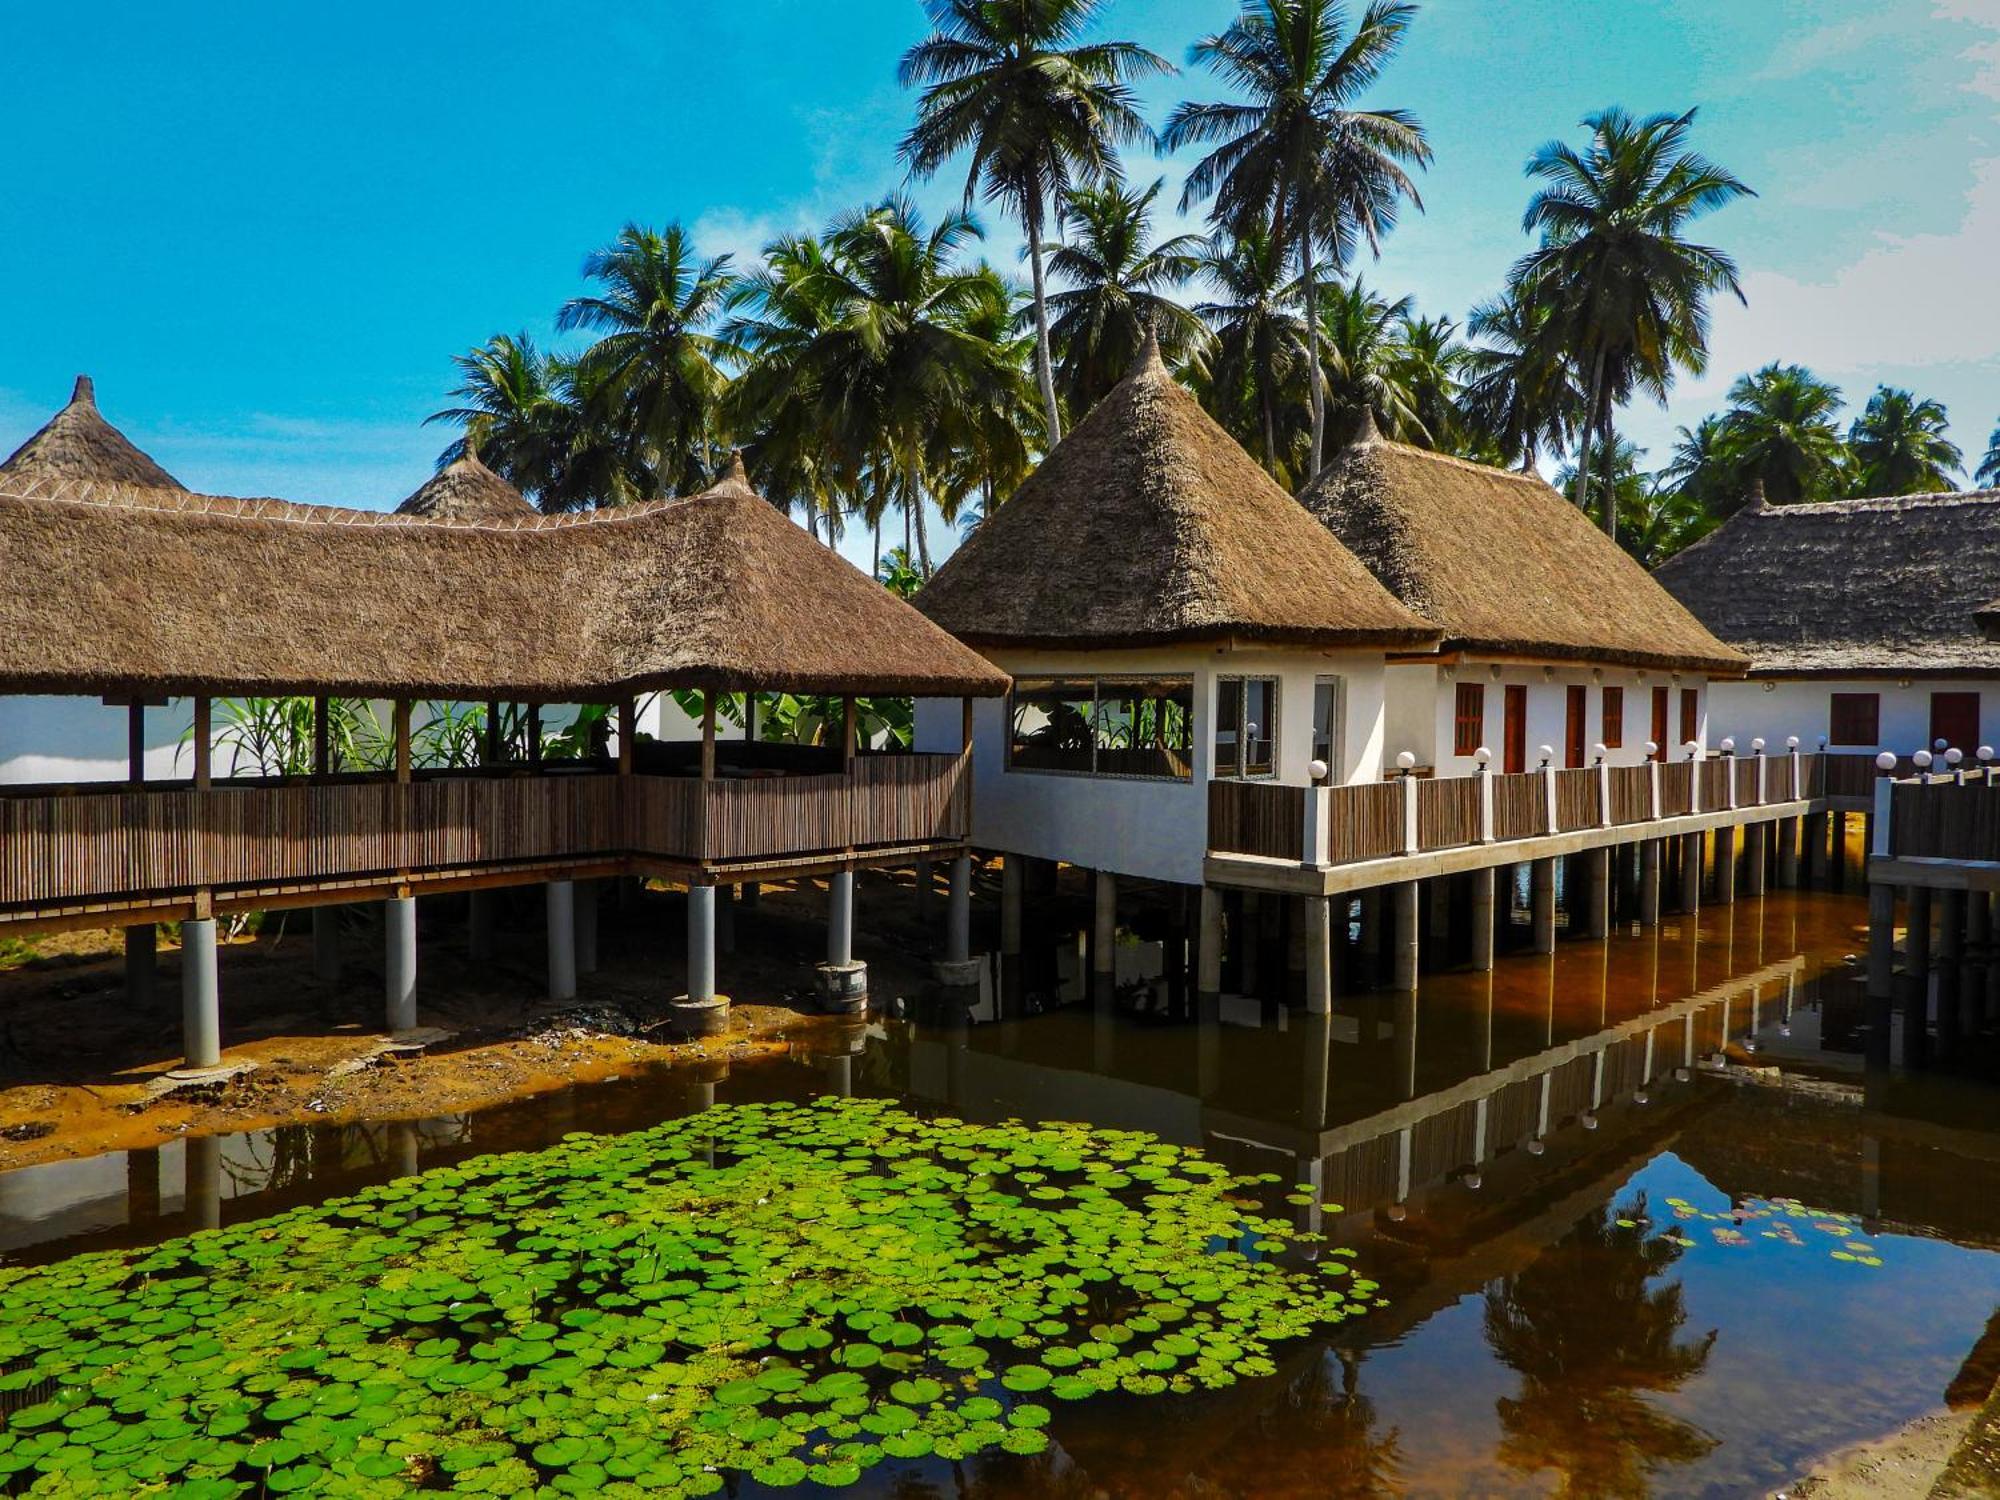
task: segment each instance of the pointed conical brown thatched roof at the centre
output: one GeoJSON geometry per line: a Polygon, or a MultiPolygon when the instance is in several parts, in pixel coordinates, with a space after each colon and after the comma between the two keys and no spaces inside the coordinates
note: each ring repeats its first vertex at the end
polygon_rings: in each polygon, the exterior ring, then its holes
{"type": "Polygon", "coordinates": [[[1150,342],[916,606],[978,646],[1436,642],[1202,410],[1150,342]]]}

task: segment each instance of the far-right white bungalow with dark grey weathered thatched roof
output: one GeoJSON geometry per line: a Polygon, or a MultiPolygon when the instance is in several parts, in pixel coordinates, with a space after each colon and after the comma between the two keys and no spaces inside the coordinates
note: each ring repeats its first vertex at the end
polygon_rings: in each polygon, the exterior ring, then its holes
{"type": "Polygon", "coordinates": [[[1750,658],[1722,732],[1910,754],[2000,738],[2000,490],[1752,502],[1656,572],[1750,658]]]}

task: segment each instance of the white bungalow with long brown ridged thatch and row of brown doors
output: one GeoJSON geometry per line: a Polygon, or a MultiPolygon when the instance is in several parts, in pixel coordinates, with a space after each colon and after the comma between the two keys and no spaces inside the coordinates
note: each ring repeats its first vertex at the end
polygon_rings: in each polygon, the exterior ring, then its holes
{"type": "Polygon", "coordinates": [[[1472,770],[1478,748],[1526,770],[1542,744],[1558,764],[1598,744],[1642,760],[1648,740],[1700,740],[1702,682],[1748,666],[1538,474],[1388,442],[1364,418],[1300,500],[1444,636],[1438,662],[1392,672],[1388,746],[1440,772],[1472,770]]]}

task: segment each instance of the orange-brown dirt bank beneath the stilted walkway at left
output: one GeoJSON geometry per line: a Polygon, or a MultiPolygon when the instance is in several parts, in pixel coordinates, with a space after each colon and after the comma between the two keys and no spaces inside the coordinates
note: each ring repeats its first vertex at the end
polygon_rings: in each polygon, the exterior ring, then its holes
{"type": "MultiPolygon", "coordinates": [[[[150,1096],[180,1064],[180,954],[160,934],[150,1004],[126,996],[116,930],[64,934],[0,950],[0,1170],[186,1134],[290,1120],[338,1124],[470,1110],[654,1062],[752,1056],[824,1024],[812,966],[826,952],[826,886],[764,886],[756,906],[718,912],[732,950],[718,980],[734,1000],[726,1034],[686,1042],[668,1000],[686,988],[686,900],[620,890],[598,902],[598,972],[578,998],[546,1000],[542,890],[500,892],[496,954],[466,954],[466,898],[418,906],[418,1024],[444,1032],[416,1054],[382,1056],[380,908],[342,908],[344,970],[312,966],[308,912],[270,914],[222,950],[220,1084],[150,1096]]],[[[930,906],[944,918],[942,888],[930,906]]],[[[868,872],[856,890],[856,958],[876,1004],[928,984],[932,932],[918,920],[910,872],[868,872]]]]}

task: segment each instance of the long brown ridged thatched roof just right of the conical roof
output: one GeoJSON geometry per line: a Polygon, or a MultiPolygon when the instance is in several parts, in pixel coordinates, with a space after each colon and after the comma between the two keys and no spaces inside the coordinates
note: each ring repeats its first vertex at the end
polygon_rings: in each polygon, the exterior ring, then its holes
{"type": "Polygon", "coordinates": [[[1746,666],[1538,474],[1386,442],[1364,422],[1300,500],[1444,632],[1444,650],[1746,666]]]}

